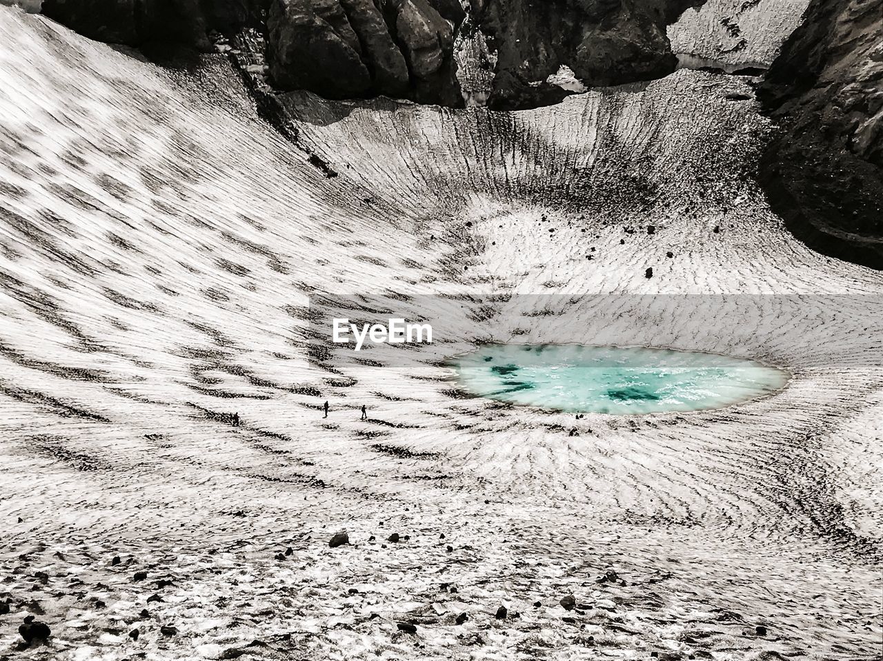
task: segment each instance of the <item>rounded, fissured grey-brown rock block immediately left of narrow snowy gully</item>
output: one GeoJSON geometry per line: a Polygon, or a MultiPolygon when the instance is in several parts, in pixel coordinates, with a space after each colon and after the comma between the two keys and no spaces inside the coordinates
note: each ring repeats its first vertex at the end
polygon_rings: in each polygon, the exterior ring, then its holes
{"type": "Polygon", "coordinates": [[[453,49],[464,17],[444,0],[274,0],[270,74],[275,86],[332,99],[385,94],[462,105],[453,49]]]}

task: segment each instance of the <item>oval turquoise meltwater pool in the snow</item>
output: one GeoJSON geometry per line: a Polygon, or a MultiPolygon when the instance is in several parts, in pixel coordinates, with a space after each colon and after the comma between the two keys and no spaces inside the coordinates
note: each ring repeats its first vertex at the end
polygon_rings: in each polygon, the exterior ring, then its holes
{"type": "Polygon", "coordinates": [[[772,394],[788,372],[702,351],[577,344],[490,344],[455,358],[482,397],[577,413],[719,409],[772,394]]]}

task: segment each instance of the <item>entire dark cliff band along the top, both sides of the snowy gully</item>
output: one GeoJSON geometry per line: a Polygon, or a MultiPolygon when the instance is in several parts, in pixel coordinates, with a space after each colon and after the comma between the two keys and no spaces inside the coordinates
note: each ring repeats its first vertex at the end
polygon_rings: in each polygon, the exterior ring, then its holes
{"type": "Polygon", "coordinates": [[[666,26],[701,2],[472,0],[467,11],[459,0],[45,0],[43,13],[132,46],[207,49],[212,30],[254,26],[266,34],[268,80],[278,90],[460,106],[465,75],[485,81],[482,102],[522,109],[674,71],[666,26]],[[458,75],[464,50],[479,55],[458,75]]]}

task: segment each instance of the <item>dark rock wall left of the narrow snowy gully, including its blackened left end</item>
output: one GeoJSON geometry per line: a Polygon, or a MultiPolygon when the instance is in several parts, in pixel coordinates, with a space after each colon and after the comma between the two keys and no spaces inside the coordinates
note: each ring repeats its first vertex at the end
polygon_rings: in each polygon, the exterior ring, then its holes
{"type": "Polygon", "coordinates": [[[453,60],[457,0],[45,0],[42,13],[98,41],[206,50],[207,33],[257,26],[280,89],[332,99],[385,94],[463,104],[453,60]]]}

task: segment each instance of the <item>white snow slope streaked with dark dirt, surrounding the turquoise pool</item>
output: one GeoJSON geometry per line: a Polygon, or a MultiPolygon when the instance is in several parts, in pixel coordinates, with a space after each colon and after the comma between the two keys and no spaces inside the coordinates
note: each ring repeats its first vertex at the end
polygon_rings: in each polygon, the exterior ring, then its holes
{"type": "Polygon", "coordinates": [[[291,94],[292,144],[222,56],[162,69],[6,7],[0,42],[0,654],[28,612],[47,659],[877,653],[883,274],[769,212],[743,79],[518,113],[291,94]],[[447,334],[323,353],[310,310],[366,294],[447,334]],[[575,420],[440,364],[598,319],[795,378],[575,420]]]}

